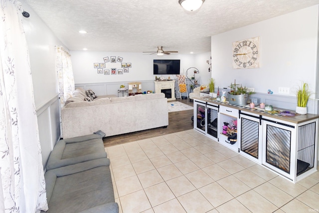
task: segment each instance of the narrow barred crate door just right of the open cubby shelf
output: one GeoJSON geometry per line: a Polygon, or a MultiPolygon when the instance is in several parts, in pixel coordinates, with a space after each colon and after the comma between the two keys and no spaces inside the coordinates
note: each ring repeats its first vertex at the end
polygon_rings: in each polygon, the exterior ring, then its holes
{"type": "Polygon", "coordinates": [[[240,115],[240,153],[247,158],[261,163],[262,126],[259,117],[240,115]]]}

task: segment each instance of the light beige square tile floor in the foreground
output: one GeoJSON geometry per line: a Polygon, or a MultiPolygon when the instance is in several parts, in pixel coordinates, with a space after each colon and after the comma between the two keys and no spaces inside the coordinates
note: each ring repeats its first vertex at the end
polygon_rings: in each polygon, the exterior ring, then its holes
{"type": "Polygon", "coordinates": [[[193,129],[105,149],[120,213],[319,212],[319,172],[293,184],[193,129]]]}

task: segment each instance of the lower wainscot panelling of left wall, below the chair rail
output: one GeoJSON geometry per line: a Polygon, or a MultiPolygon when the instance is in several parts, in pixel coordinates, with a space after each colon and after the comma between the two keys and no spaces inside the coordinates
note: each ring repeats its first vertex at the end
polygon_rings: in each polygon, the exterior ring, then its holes
{"type": "Polygon", "coordinates": [[[42,150],[42,165],[46,165],[49,155],[61,137],[59,94],[36,109],[39,137],[42,150]]]}

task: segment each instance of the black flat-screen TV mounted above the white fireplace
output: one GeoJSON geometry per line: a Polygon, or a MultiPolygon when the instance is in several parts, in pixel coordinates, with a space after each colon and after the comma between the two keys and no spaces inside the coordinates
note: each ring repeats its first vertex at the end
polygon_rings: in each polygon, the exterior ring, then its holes
{"type": "Polygon", "coordinates": [[[154,60],[154,75],[179,74],[180,60],[154,60]]]}

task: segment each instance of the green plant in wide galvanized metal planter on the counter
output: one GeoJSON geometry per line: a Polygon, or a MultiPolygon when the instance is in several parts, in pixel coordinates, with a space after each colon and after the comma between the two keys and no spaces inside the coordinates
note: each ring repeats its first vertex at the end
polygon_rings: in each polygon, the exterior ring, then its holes
{"type": "Polygon", "coordinates": [[[236,80],[234,81],[234,84],[231,83],[229,87],[230,92],[227,94],[229,104],[246,106],[248,96],[254,94],[254,92],[248,92],[247,87],[243,87],[241,84],[236,84],[236,80]]]}

